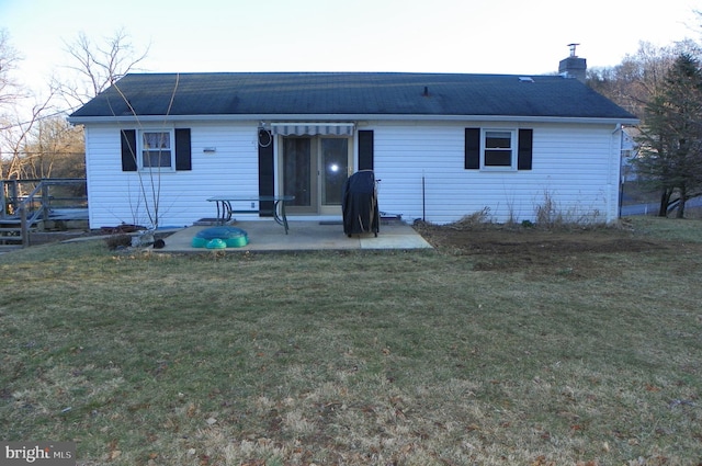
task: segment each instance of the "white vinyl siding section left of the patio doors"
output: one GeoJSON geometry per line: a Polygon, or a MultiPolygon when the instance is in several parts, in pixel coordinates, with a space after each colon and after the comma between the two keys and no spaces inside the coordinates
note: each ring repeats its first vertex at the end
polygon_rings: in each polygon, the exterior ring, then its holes
{"type": "Polygon", "coordinates": [[[91,228],[121,223],[152,226],[154,198],[159,226],[189,226],[216,215],[206,200],[236,192],[258,195],[257,125],[180,124],[191,128],[192,170],[122,171],[120,129],[91,125],[86,130],[86,170],[91,228]],[[215,149],[205,152],[204,149],[215,149]],[[149,208],[147,208],[149,206],[149,208]]]}

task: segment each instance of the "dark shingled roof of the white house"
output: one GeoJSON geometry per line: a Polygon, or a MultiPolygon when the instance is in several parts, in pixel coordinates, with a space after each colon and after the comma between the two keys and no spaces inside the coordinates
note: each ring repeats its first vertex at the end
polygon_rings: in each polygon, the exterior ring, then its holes
{"type": "Polygon", "coordinates": [[[396,72],[133,73],[71,117],[466,115],[635,120],[561,76],[396,72]],[[428,91],[424,94],[424,90],[428,91]]]}

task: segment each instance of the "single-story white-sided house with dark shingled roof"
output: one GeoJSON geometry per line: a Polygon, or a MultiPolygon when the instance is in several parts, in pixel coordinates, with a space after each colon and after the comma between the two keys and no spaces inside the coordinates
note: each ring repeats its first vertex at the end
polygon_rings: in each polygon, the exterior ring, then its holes
{"type": "Polygon", "coordinates": [[[159,225],[191,225],[228,193],[340,219],[364,169],[381,211],[409,221],[533,221],[546,201],[612,221],[636,122],[567,76],[396,72],[133,73],[69,121],[86,128],[91,227],[154,223],[154,205],[159,225]]]}

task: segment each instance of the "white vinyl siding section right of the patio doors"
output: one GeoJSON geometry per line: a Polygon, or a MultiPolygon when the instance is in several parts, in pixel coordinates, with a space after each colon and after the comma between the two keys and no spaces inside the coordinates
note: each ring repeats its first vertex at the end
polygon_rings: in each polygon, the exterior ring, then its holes
{"type": "Polygon", "coordinates": [[[574,220],[616,218],[613,126],[523,125],[533,129],[532,170],[523,171],[463,170],[465,127],[374,127],[381,211],[443,224],[487,208],[495,221],[522,221],[548,198],[574,220]]]}

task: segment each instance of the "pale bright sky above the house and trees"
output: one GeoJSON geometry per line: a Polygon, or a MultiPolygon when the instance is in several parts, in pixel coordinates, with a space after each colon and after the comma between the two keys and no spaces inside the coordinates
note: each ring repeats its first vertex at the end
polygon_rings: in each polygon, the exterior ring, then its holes
{"type": "Polygon", "coordinates": [[[124,30],[144,72],[416,71],[543,75],[568,44],[588,67],[702,39],[702,0],[0,0],[31,89],[66,72],[66,44],[124,30]]]}

